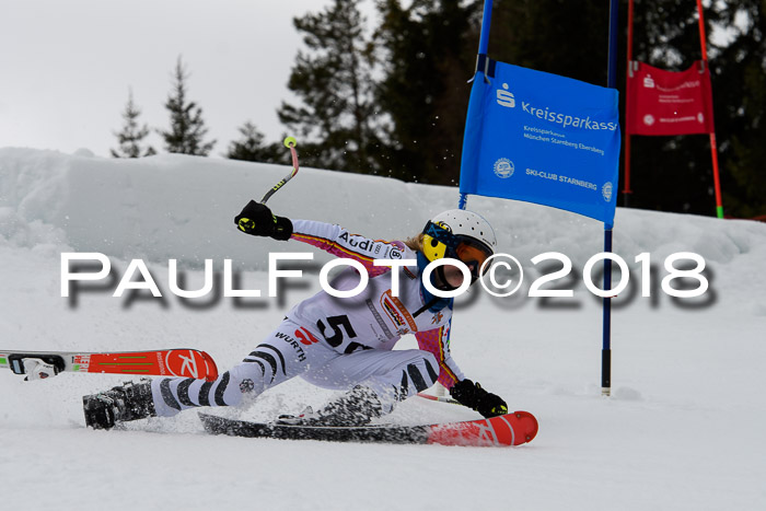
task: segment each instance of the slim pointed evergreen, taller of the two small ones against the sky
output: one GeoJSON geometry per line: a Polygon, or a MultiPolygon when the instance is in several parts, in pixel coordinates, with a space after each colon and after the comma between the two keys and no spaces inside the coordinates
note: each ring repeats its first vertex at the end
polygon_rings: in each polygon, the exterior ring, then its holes
{"type": "Polygon", "coordinates": [[[216,144],[216,140],[205,142],[208,132],[202,119],[202,108],[186,98],[186,80],[189,76],[181,57],[173,74],[173,90],[167,96],[165,108],[171,114],[171,128],[160,131],[165,140],[167,152],[207,156],[216,144]]]}

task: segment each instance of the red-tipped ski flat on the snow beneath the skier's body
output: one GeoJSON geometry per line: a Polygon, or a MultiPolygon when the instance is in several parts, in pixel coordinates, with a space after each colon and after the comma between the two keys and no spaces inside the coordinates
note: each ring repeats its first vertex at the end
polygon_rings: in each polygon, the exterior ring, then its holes
{"type": "Polygon", "coordinates": [[[283,440],[501,446],[521,445],[531,442],[537,434],[537,419],[527,411],[427,426],[293,426],[233,420],[202,413],[199,418],[205,430],[211,434],[283,440]]]}

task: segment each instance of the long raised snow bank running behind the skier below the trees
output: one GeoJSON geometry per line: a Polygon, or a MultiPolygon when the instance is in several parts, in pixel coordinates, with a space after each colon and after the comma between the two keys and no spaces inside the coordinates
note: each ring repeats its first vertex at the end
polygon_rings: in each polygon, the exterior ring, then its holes
{"type": "MultiPolygon", "coordinates": [[[[175,258],[196,268],[206,258],[231,258],[241,268],[263,269],[266,254],[285,251],[285,245],[253,243],[236,231],[233,217],[289,170],[184,155],[113,160],[1,149],[0,236],[14,246],[53,243],[124,259],[175,258]]],[[[301,169],[269,206],[281,216],[403,239],[456,201],[454,187],[301,169]]],[[[468,208],[490,220],[500,251],[524,262],[555,251],[582,266],[603,247],[601,223],[573,213],[484,197],[471,197],[468,208]]],[[[766,225],[748,221],[623,208],[615,221],[615,252],[628,263],[642,252],[662,259],[688,251],[728,264],[764,239],[766,225]]]]}

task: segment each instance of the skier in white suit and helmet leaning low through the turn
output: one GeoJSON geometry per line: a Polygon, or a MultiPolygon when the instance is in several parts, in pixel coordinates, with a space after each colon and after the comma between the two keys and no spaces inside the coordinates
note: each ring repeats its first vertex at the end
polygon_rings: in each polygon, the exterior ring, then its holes
{"type": "MultiPolygon", "coordinates": [[[[423,268],[444,257],[465,263],[471,283],[479,278],[481,265],[497,245],[483,217],[465,210],[445,211],[406,242],[371,240],[339,225],[277,217],[253,200],[234,221],[247,234],[297,240],[355,259],[367,269],[369,283],[352,298],[337,299],[323,290],[302,301],[240,364],[214,382],[159,378],[84,396],[88,426],[108,429],[117,422],[170,417],[192,407],[236,406],[299,375],[320,387],[347,392],[316,411],[306,408],[300,416],[280,416],[283,423],[365,425],[437,381],[454,399],[484,417],[508,411],[502,398],[464,378],[452,360],[448,339],[453,299],[432,294],[422,282],[423,268]],[[374,259],[415,263],[385,267],[374,266],[374,259]],[[392,292],[395,277],[398,295],[392,292]],[[419,349],[392,350],[408,333],[415,334],[419,349]]],[[[449,264],[430,275],[433,287],[443,291],[457,289],[463,278],[462,270],[449,264]]],[[[332,287],[355,289],[359,279],[357,269],[350,267],[332,287]]]]}

